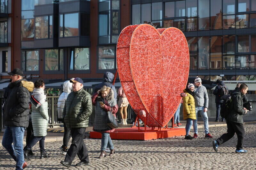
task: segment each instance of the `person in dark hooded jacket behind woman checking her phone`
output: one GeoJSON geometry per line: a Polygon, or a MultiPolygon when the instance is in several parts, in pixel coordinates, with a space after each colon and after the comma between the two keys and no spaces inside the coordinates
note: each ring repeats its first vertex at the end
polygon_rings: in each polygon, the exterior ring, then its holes
{"type": "Polygon", "coordinates": [[[103,82],[100,83],[99,85],[96,86],[96,88],[94,89],[94,93],[98,92],[98,90],[101,89],[101,87],[103,87],[104,85],[107,87],[110,87],[113,92],[114,92],[114,98],[117,101],[117,93],[116,93],[116,87],[114,85],[112,85],[113,80],[114,80],[114,74],[111,72],[105,72],[104,76],[103,76],[103,82]]]}

